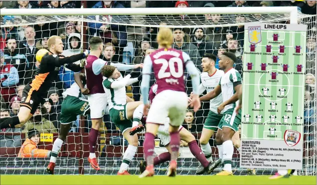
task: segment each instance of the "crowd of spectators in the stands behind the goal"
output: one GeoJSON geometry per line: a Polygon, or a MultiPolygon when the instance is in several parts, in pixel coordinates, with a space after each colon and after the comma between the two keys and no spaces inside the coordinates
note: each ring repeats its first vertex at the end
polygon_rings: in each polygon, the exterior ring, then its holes
{"type": "MultiPolygon", "coordinates": [[[[81,1],[0,1],[1,9],[63,9],[81,8],[81,1]]],[[[296,6],[302,14],[316,14],[315,1],[87,1],[86,8],[188,8],[188,7],[284,7],[296,6]]],[[[36,10],[34,10],[36,11],[36,10]]],[[[220,55],[229,51],[235,53],[238,62],[235,69],[242,74],[243,47],[244,47],[244,22],[248,22],[246,15],[201,15],[205,25],[218,25],[211,28],[198,27],[193,29],[173,28],[173,48],[186,52],[194,62],[197,70],[201,71],[201,58],[205,53],[213,53],[217,56],[216,68],[220,55]],[[227,20],[233,20],[237,26],[221,27],[227,20]],[[241,23],[239,25],[239,23],[241,23]]],[[[127,18],[131,22],[145,24],[145,15],[140,16],[91,16],[92,20],[112,20],[127,18]]],[[[256,16],[255,16],[256,17],[256,16]]],[[[50,36],[58,35],[64,42],[64,56],[71,56],[88,49],[88,40],[92,36],[100,36],[105,44],[100,58],[105,61],[119,63],[141,64],[149,53],[158,48],[156,34],[158,29],[151,27],[123,26],[118,24],[87,23],[86,27],[77,21],[60,21],[40,24],[45,16],[34,17],[35,25],[28,25],[31,18],[22,16],[4,16],[2,25],[10,25],[0,29],[0,100],[1,117],[16,116],[19,112],[22,91],[24,86],[32,80],[40,63],[35,55],[40,49],[48,49],[50,36]],[[37,24],[39,22],[39,24],[37,24]],[[15,26],[27,25],[27,26],[15,26]],[[83,32],[83,33],[82,33],[83,32]]],[[[153,18],[154,19],[154,18],[153,18]]],[[[171,20],[189,23],[195,19],[195,15],[156,16],[162,24],[171,20]]],[[[315,104],[315,54],[316,54],[316,25],[315,18],[308,20],[308,32],[306,45],[306,75],[305,75],[305,104],[304,104],[304,132],[312,132],[312,126],[316,123],[315,104]]],[[[281,22],[289,23],[289,22],[281,22]]],[[[203,24],[202,24],[203,25],[203,24]]],[[[80,63],[80,61],[77,61],[80,63]]],[[[32,147],[38,144],[40,133],[58,133],[60,128],[59,117],[63,92],[75,83],[74,73],[66,67],[61,67],[59,76],[52,83],[45,102],[41,104],[22,129],[3,129],[0,132],[25,132],[25,142],[31,143],[32,147]],[[28,134],[29,132],[29,134],[28,134]]],[[[124,73],[124,72],[122,72],[124,73]]],[[[191,81],[189,75],[186,79],[187,93],[190,94],[191,81]]],[[[154,83],[152,78],[151,85],[154,83]]],[[[131,97],[139,101],[140,84],[132,84],[131,97]]],[[[188,112],[184,118],[184,126],[193,133],[199,133],[205,117],[208,114],[209,103],[204,102],[202,110],[195,114],[188,112]]],[[[80,118],[80,117],[78,117],[80,118]]],[[[85,118],[84,125],[80,119],[73,123],[72,131],[78,132],[80,125],[91,127],[90,117],[85,118]]],[[[104,117],[106,133],[119,133],[108,115],[104,117]]],[[[312,139],[312,138],[310,138],[312,139]]],[[[21,146],[20,135],[1,135],[0,147],[21,146]]],[[[186,146],[186,143],[183,143],[186,146]]],[[[31,147],[31,146],[30,146],[31,147]]],[[[48,151],[49,152],[49,151],[48,151]]],[[[46,152],[46,154],[48,153],[46,152]]]]}

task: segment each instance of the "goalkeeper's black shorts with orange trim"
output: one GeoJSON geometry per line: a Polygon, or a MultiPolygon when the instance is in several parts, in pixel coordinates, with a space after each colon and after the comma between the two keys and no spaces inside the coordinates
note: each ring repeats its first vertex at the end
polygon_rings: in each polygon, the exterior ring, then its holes
{"type": "Polygon", "coordinates": [[[28,107],[31,110],[31,114],[34,114],[38,109],[43,98],[39,93],[30,85],[26,85],[22,91],[22,99],[20,106],[28,107]]]}

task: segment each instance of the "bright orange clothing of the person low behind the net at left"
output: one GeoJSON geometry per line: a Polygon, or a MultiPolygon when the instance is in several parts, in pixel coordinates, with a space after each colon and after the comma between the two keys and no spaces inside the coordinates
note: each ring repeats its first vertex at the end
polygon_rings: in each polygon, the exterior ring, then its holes
{"type": "Polygon", "coordinates": [[[50,150],[46,149],[38,149],[37,144],[32,141],[31,139],[26,139],[24,141],[18,157],[49,157],[50,156],[50,150]]]}

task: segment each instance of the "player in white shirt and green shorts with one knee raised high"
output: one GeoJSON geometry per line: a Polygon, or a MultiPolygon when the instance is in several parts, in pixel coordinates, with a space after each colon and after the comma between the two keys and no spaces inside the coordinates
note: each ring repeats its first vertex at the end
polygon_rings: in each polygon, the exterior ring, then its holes
{"type": "Polygon", "coordinates": [[[135,134],[137,130],[134,129],[131,131],[131,128],[138,126],[143,117],[144,107],[141,101],[127,103],[126,86],[140,81],[142,75],[137,78],[131,78],[133,74],[140,74],[140,72],[132,72],[123,78],[121,73],[114,66],[104,66],[101,73],[105,77],[103,87],[107,95],[111,120],[129,142],[118,171],[119,175],[126,175],[129,174],[127,169],[139,145],[138,136],[135,134]],[[131,118],[133,118],[133,122],[131,118]]]}

